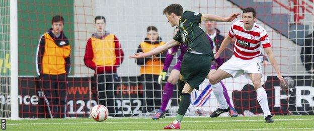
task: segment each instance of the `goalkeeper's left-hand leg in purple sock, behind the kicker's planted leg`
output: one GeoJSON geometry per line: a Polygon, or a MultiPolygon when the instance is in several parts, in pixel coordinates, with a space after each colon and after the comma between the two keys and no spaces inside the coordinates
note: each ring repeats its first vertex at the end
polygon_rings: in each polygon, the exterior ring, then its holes
{"type": "Polygon", "coordinates": [[[160,119],[166,116],[166,107],[173,93],[173,87],[178,82],[180,76],[180,71],[177,69],[173,69],[170,73],[170,76],[167,80],[167,84],[163,89],[163,97],[162,97],[162,106],[160,110],[158,110],[153,116],[152,119],[160,119]]]}

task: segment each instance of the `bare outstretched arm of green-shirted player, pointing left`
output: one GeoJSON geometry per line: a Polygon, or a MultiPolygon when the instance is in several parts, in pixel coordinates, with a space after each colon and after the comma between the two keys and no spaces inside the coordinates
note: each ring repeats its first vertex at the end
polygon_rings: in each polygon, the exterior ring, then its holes
{"type": "Polygon", "coordinates": [[[130,55],[129,58],[143,58],[143,57],[147,57],[147,56],[151,56],[151,55],[154,55],[154,54],[158,54],[158,53],[161,53],[161,52],[164,52],[165,50],[173,47],[173,46],[176,46],[180,44],[180,42],[178,41],[175,41],[174,39],[171,39],[169,41],[166,42],[166,44],[162,45],[162,46],[158,46],[148,52],[139,52],[139,53],[136,53],[134,55],[130,55]]]}

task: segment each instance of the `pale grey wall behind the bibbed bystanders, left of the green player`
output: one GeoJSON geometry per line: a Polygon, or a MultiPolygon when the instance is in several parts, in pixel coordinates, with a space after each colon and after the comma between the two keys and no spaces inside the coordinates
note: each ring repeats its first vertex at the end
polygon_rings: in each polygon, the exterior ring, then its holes
{"type": "Polygon", "coordinates": [[[147,26],[156,26],[163,41],[172,39],[174,28],[162,13],[164,8],[173,3],[179,3],[185,10],[190,10],[192,1],[75,1],[75,75],[94,73],[85,67],[83,58],[86,41],[96,30],[94,17],[100,15],[106,18],[106,30],[118,37],[125,54],[124,61],[118,68],[119,76],[139,75],[135,59],[129,59],[128,56],[136,53],[139,43],[146,37],[147,26]]]}

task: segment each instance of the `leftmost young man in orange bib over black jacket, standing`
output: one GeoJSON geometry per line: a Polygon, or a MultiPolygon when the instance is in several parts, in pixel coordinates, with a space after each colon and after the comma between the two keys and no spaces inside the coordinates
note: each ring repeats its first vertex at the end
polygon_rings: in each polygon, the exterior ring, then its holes
{"type": "Polygon", "coordinates": [[[66,116],[67,76],[71,47],[63,32],[64,19],[54,16],[51,29],[39,39],[36,70],[51,118],[66,116]]]}

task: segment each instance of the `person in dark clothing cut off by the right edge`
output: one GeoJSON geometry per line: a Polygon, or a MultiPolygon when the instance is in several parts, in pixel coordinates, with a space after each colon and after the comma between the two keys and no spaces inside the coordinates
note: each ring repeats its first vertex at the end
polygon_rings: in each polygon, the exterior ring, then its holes
{"type": "Polygon", "coordinates": [[[313,62],[314,62],[314,31],[313,33],[307,35],[304,40],[304,46],[301,49],[301,61],[304,65],[305,70],[312,74],[313,70],[313,62]]]}

